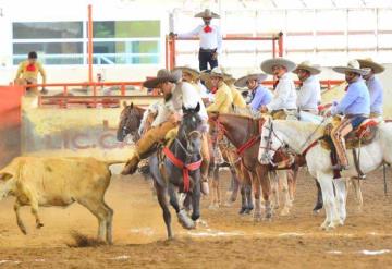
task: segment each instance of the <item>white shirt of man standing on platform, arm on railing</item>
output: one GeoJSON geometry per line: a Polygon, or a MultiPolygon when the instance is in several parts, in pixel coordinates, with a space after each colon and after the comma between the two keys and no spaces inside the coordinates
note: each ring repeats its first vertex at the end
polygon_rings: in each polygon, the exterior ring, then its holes
{"type": "Polygon", "coordinates": [[[217,49],[218,53],[222,52],[222,35],[220,29],[216,25],[210,25],[212,28],[211,32],[206,33],[204,32],[204,27],[206,25],[200,24],[194,30],[185,34],[179,34],[179,37],[182,38],[189,38],[198,36],[200,38],[200,48],[201,49],[217,49]]]}

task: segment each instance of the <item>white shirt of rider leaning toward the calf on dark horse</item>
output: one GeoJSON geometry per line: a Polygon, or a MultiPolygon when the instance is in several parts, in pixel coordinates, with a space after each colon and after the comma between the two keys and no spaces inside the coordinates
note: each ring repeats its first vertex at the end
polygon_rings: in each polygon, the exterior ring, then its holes
{"type": "Polygon", "coordinates": [[[201,120],[207,121],[207,110],[197,89],[187,82],[180,82],[175,84],[172,91],[172,98],[159,107],[158,115],[151,126],[158,126],[159,124],[166,122],[173,112],[182,114],[182,106],[185,108],[196,108],[197,102],[200,105],[200,111],[198,114],[201,120]]]}

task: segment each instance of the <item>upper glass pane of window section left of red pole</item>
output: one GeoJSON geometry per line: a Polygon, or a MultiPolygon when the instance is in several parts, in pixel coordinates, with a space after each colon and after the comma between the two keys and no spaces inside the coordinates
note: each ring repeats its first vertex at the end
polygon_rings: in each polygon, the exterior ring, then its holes
{"type": "Polygon", "coordinates": [[[13,23],[13,39],[83,38],[82,22],[13,23]]]}

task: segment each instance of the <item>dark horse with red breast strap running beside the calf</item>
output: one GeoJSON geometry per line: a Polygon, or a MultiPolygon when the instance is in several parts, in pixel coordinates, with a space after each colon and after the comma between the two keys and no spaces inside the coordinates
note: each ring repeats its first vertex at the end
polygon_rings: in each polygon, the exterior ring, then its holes
{"type": "MultiPolygon", "coordinates": [[[[174,142],[169,146],[170,152],[176,158],[182,166],[192,166],[191,163],[200,163],[201,132],[203,121],[198,114],[200,106],[195,109],[183,108],[183,120],[179,127],[179,133],[174,142]]],[[[200,169],[199,164],[194,170],[185,170],[174,164],[168,152],[164,151],[166,158],[160,160],[161,152],[149,157],[150,173],[154,179],[154,186],[157,191],[159,205],[163,210],[163,219],[168,230],[168,237],[172,239],[171,215],[169,210],[167,194],[170,197],[170,205],[174,208],[180,223],[186,229],[195,228],[195,221],[200,217],[200,169]],[[189,188],[186,185],[186,174],[189,175],[189,188]],[[180,210],[175,188],[186,193],[192,200],[192,216],[187,216],[184,210],[180,210]]]]}

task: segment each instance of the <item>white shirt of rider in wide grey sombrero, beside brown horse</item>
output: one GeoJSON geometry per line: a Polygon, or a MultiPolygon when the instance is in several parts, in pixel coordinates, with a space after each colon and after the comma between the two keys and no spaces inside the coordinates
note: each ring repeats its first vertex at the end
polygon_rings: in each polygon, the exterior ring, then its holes
{"type": "Polygon", "coordinates": [[[285,73],[279,78],[277,88],[273,91],[273,98],[266,107],[269,111],[280,109],[296,109],[295,85],[291,76],[285,73]]]}

